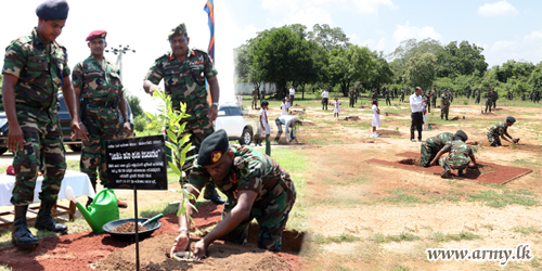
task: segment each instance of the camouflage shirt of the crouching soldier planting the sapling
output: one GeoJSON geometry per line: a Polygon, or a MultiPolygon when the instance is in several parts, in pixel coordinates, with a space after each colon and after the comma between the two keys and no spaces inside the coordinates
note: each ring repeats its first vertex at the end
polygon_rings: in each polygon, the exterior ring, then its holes
{"type": "MultiPolygon", "coordinates": [[[[256,202],[267,198],[275,185],[279,185],[281,179],[284,180],[286,171],[276,164],[273,158],[263,154],[251,146],[230,145],[234,160],[230,173],[222,180],[214,180],[217,188],[224,193],[228,198],[236,203],[238,192],[249,190],[258,193],[256,202]]],[[[199,188],[210,180],[210,176],[205,167],[195,165],[189,181],[191,184],[199,188]]],[[[287,186],[293,186],[294,183],[287,186]]]]}

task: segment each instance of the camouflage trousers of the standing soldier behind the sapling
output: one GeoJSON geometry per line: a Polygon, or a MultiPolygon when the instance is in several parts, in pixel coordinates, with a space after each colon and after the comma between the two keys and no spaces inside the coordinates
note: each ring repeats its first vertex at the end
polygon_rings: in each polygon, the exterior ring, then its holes
{"type": "MultiPolygon", "coordinates": [[[[182,139],[185,134],[190,134],[189,143],[192,143],[194,149],[186,153],[186,157],[194,157],[194,155],[199,153],[203,140],[215,132],[215,127],[207,116],[199,119],[182,119],[180,124],[182,125],[184,122],[186,122],[186,126],[184,127],[184,131],[181,133],[180,139],[182,139]]],[[[184,146],[181,146],[181,149],[184,146]]],[[[179,149],[179,151],[181,151],[181,149],[179,149]]],[[[191,159],[186,158],[182,169],[190,169],[192,165],[194,165],[194,160],[195,157],[191,159]]]]}

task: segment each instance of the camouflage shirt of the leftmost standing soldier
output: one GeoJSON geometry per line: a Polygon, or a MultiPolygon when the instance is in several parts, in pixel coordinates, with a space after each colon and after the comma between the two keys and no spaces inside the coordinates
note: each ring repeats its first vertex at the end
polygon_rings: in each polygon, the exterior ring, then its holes
{"type": "Polygon", "coordinates": [[[59,88],[69,76],[66,49],[56,41],[43,43],[34,28],[31,34],[13,40],[5,48],[2,74],[18,78],[14,89],[17,111],[56,112],[59,88]]]}

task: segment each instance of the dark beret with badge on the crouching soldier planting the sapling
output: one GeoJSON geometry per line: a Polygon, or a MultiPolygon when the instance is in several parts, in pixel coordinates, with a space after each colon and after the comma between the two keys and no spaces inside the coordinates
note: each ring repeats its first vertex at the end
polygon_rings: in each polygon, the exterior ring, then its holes
{"type": "Polygon", "coordinates": [[[199,147],[199,154],[197,155],[197,165],[198,166],[209,166],[215,164],[222,158],[225,151],[230,146],[230,142],[228,141],[228,134],[224,130],[220,129],[207,138],[202,142],[202,146],[199,147]]]}

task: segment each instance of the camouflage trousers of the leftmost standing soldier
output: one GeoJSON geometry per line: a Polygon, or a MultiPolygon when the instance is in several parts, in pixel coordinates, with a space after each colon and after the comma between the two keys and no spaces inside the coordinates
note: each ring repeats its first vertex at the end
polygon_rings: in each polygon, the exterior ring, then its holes
{"type": "Polygon", "coordinates": [[[17,112],[17,120],[26,143],[24,150],[17,151],[13,158],[15,169],[15,186],[11,197],[13,205],[27,205],[34,202],[38,170],[43,173],[39,198],[55,202],[66,171],[65,150],[59,121],[43,122],[28,115],[17,112]]]}

